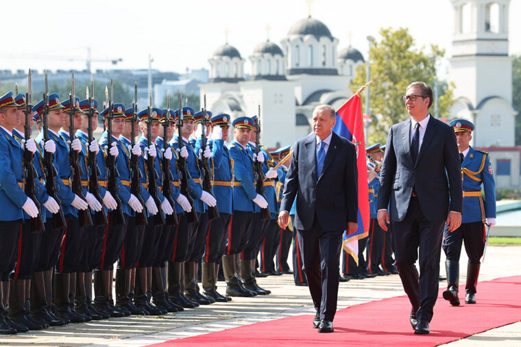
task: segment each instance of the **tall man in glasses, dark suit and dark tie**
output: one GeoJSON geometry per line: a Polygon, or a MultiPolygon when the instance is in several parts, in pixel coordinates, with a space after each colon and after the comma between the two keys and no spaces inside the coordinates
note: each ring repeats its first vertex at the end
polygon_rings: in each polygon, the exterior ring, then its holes
{"type": "Polygon", "coordinates": [[[411,118],[389,131],[377,216],[385,231],[391,224],[396,267],[413,307],[411,325],[415,333],[428,334],[438,294],[444,223],[449,231],[461,224],[459,153],[451,127],[428,113],[431,87],[413,82],[402,99],[411,118]],[[418,247],[421,277],[415,266],[418,247]]]}

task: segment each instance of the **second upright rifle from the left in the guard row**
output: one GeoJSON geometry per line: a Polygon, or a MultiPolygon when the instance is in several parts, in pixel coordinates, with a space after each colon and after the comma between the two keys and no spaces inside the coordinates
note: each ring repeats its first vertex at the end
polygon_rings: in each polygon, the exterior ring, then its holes
{"type": "MultiPolygon", "coordinates": [[[[47,83],[47,70],[45,70],[45,92],[43,93],[43,112],[42,112],[42,127],[43,127],[43,141],[49,141],[49,123],[47,123],[47,116],[49,115],[49,84],[47,83]]],[[[56,195],[56,177],[58,171],[54,166],[54,155],[47,151],[43,151],[43,170],[45,173],[45,190],[47,195],[51,196],[56,203],[60,205],[58,213],[53,214],[53,230],[64,229],[66,227],[65,217],[63,216],[62,202],[56,195]],[[58,215],[58,216],[56,216],[58,215]]]]}

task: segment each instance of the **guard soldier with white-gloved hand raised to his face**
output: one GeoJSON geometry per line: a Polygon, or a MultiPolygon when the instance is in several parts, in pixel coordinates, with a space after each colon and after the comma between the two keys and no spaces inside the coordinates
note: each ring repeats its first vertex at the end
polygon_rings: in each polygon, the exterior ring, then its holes
{"type": "Polygon", "coordinates": [[[226,248],[226,237],[233,213],[233,159],[230,157],[230,151],[224,145],[224,142],[228,140],[230,115],[219,114],[210,120],[212,122],[210,147],[213,163],[213,192],[215,200],[217,200],[219,218],[210,221],[206,235],[202,259],[202,287],[206,296],[226,303],[232,298],[222,296],[217,292],[217,274],[219,273],[219,260],[226,248]]]}

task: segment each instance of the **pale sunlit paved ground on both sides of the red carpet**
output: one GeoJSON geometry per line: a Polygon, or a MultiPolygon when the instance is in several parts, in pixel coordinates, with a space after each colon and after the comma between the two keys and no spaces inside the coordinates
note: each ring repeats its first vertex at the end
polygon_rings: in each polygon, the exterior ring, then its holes
{"type": "MultiPolygon", "coordinates": [[[[521,246],[489,246],[481,281],[521,274],[521,246]]],[[[444,259],[442,259],[442,264],[444,259]]],[[[466,259],[461,260],[465,269],[466,259]]],[[[444,269],[444,266],[442,266],[444,269]]],[[[441,270],[444,273],[444,270],[441,270]]],[[[463,270],[465,272],[465,270],[463,270]]],[[[460,282],[464,283],[465,273],[460,282]]],[[[264,320],[296,314],[313,314],[307,287],[295,287],[292,275],[258,279],[269,290],[269,296],[234,298],[231,303],[215,303],[162,317],[125,317],[110,320],[69,324],[44,331],[30,331],[0,337],[1,346],[145,346],[169,339],[229,329],[264,320]]],[[[218,283],[223,292],[223,283],[218,283]]],[[[341,283],[339,309],[371,300],[403,295],[398,275],[376,277],[341,283]]],[[[479,294],[477,295],[479,300],[479,294]]],[[[408,317],[404,317],[407,319],[408,317]]],[[[432,326],[431,329],[435,329],[432,326]]],[[[453,342],[450,346],[515,346],[521,344],[521,322],[476,334],[453,342]]]]}

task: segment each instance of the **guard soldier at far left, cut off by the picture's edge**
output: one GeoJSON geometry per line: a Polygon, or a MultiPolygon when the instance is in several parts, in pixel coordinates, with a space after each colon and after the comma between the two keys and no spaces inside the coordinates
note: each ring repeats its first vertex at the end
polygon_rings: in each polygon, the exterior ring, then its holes
{"type": "MultiPolygon", "coordinates": [[[[29,215],[28,218],[38,216],[38,207],[23,190],[23,145],[12,133],[14,127],[19,125],[17,108],[12,92],[0,97],[0,203],[3,207],[0,216],[0,333],[4,335],[19,331],[11,325],[12,321],[7,317],[5,301],[8,299],[8,281],[14,268],[19,237],[26,218],[24,212],[29,215]]],[[[36,152],[34,140],[27,141],[25,145],[29,151],[36,152]]],[[[22,289],[25,294],[25,287],[20,288],[22,289]]],[[[15,296],[17,294],[14,293],[15,296]]],[[[21,312],[23,318],[24,313],[21,312]]],[[[28,331],[27,327],[23,331],[28,331]]]]}

